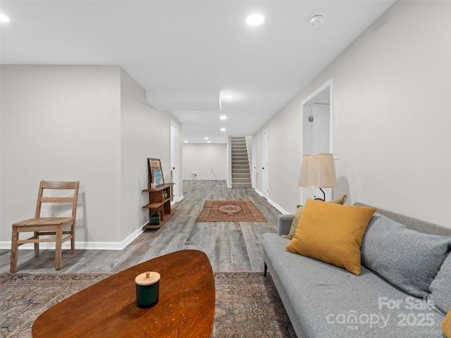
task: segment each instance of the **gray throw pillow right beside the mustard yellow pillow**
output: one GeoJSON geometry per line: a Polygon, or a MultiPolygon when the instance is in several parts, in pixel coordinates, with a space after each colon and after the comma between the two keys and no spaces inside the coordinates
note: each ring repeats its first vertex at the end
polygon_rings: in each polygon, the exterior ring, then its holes
{"type": "Polygon", "coordinates": [[[362,265],[413,296],[426,297],[451,238],[422,234],[376,213],[362,241],[362,265]]]}

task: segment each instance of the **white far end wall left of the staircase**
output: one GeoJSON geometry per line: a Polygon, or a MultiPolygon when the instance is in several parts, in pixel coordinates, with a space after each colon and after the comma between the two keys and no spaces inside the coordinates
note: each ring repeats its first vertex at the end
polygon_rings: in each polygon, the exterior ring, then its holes
{"type": "Polygon", "coordinates": [[[227,144],[183,144],[183,180],[227,180],[227,144]]]}

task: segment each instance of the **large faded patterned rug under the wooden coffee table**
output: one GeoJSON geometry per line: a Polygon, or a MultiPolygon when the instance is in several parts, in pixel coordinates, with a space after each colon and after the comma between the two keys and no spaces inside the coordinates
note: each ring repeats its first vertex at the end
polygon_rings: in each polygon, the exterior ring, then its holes
{"type": "MultiPolygon", "coordinates": [[[[108,276],[0,275],[0,337],[30,338],[35,319],[47,308],[108,276]]],[[[216,313],[211,337],[296,337],[271,277],[263,273],[215,273],[214,278],[216,313]]]]}

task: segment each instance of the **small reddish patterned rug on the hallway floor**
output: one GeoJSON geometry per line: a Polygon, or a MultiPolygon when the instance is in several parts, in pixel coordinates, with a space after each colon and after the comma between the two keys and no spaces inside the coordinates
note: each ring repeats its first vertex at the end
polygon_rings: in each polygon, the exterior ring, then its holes
{"type": "Polygon", "coordinates": [[[205,201],[196,222],[267,222],[252,201],[205,201]]]}

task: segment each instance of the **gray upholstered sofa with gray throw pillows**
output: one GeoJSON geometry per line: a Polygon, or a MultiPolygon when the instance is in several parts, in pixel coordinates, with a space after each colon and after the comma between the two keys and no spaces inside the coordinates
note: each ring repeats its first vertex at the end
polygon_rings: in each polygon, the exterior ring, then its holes
{"type": "Polygon", "coordinates": [[[292,219],[279,215],[278,234],[264,234],[262,246],[265,275],[267,269],[297,337],[443,337],[451,308],[451,229],[378,208],[357,276],[285,251],[290,240],[280,235],[292,219]]]}

